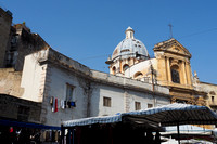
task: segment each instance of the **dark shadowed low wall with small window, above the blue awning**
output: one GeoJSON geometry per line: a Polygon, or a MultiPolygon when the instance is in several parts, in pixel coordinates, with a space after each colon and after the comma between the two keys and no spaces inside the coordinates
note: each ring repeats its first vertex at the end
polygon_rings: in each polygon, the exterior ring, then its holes
{"type": "Polygon", "coordinates": [[[0,94],[0,117],[24,122],[40,123],[41,103],[0,94]]]}

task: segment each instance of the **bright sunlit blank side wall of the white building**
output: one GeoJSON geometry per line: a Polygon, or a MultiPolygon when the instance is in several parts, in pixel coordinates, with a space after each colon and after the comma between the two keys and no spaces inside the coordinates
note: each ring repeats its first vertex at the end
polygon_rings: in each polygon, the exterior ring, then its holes
{"type": "Polygon", "coordinates": [[[48,71],[47,65],[41,66],[39,60],[44,57],[47,57],[46,50],[26,56],[21,82],[21,88],[25,90],[22,99],[34,102],[43,101],[48,71]]]}

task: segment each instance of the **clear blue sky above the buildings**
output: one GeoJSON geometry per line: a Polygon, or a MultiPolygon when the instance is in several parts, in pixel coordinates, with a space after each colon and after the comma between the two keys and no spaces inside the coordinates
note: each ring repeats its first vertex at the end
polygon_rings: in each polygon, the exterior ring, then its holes
{"type": "Polygon", "coordinates": [[[176,38],[192,54],[192,71],[217,84],[216,0],[5,0],[13,23],[26,22],[54,50],[91,69],[104,63],[131,26],[153,56],[155,43],[176,38]]]}

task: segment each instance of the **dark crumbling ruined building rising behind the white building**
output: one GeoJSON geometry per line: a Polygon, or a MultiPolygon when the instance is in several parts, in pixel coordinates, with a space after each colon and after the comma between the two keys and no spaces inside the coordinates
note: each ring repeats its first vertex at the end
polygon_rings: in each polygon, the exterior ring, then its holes
{"type": "Polygon", "coordinates": [[[12,24],[12,13],[0,8],[0,67],[14,67],[22,70],[25,55],[50,48],[38,35],[23,24],[12,24]]]}

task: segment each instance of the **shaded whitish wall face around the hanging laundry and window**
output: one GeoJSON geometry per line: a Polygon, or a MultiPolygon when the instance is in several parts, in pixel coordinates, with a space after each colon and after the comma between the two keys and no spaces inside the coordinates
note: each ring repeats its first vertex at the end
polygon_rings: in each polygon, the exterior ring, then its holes
{"type": "Polygon", "coordinates": [[[62,121],[78,119],[88,117],[88,94],[86,90],[88,89],[88,80],[77,76],[74,73],[68,73],[60,67],[53,65],[49,66],[50,81],[47,81],[49,86],[48,95],[44,97],[43,105],[47,105],[44,118],[46,125],[60,126],[62,121]],[[73,91],[73,102],[76,103],[76,107],[62,108],[60,106],[60,101],[66,101],[66,90],[67,84],[74,87],[73,91]],[[51,97],[58,99],[59,107],[58,112],[52,112],[52,106],[50,104],[51,97]],[[58,119],[56,119],[58,118],[58,119]]]}

